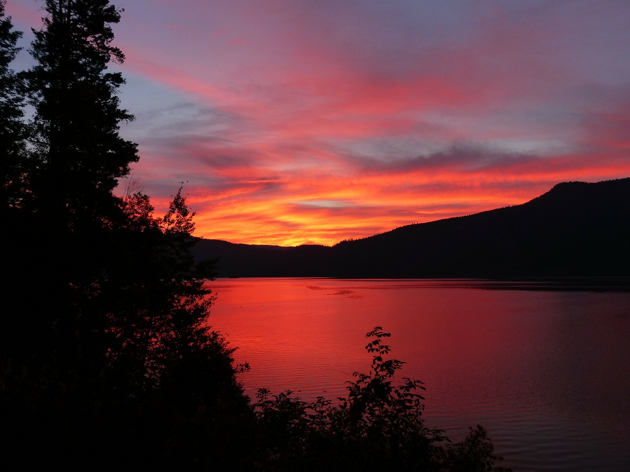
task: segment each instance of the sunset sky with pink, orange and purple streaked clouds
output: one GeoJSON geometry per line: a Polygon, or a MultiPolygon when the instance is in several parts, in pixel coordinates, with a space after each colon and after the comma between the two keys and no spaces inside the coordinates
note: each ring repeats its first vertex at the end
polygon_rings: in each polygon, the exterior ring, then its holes
{"type": "MultiPolygon", "coordinates": [[[[112,3],[120,188],[160,215],[185,183],[196,236],[332,245],[630,176],[628,0],[112,3]]],[[[42,4],[7,0],[25,50],[42,4]]]]}

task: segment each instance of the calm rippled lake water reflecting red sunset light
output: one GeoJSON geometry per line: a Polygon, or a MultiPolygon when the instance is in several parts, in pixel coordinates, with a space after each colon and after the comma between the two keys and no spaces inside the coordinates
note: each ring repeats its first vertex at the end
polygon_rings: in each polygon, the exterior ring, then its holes
{"type": "MultiPolygon", "coordinates": [[[[630,471],[630,293],[484,289],[474,281],[218,279],[253,397],[345,393],[369,370],[365,333],[391,332],[403,375],[427,387],[429,427],[490,432],[519,471],[630,471]]],[[[495,286],[496,288],[496,286],[495,286]]]]}

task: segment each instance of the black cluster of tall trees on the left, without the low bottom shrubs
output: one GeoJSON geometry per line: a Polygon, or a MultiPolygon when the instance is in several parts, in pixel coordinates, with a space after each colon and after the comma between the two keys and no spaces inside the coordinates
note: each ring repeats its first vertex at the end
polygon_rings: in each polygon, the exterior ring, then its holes
{"type": "MultiPolygon", "coordinates": [[[[30,49],[37,64],[25,74],[35,110],[28,143],[3,135],[20,149],[3,174],[3,295],[17,306],[0,339],[6,448],[35,442],[48,462],[64,463],[227,460],[251,410],[233,349],[208,325],[212,261],[190,254],[194,213],[181,188],[163,218],[141,192],[113,194],[137,160],[119,134],[133,118],[119,108],[124,80],[107,69],[124,59],[112,45],[120,11],[107,0],[46,0],[45,11],[30,49]]],[[[17,97],[11,84],[21,76],[3,64],[18,37],[0,16],[3,99],[17,97]]],[[[25,102],[10,104],[13,115],[0,120],[26,126],[25,102]]]]}

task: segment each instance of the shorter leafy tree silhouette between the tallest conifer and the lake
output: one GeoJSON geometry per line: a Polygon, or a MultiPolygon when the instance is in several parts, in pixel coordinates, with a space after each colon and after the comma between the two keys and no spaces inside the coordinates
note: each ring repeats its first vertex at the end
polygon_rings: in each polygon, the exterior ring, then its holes
{"type": "Polygon", "coordinates": [[[151,451],[146,460],[180,467],[232,461],[248,400],[232,349],[208,324],[212,262],[195,264],[190,255],[193,213],[181,188],[163,218],[152,216],[142,193],[127,195],[122,209],[123,257],[108,267],[96,306],[106,323],[101,391],[116,410],[108,416],[135,418],[120,423],[129,429],[120,430],[118,446],[133,439],[134,448],[151,451]]]}

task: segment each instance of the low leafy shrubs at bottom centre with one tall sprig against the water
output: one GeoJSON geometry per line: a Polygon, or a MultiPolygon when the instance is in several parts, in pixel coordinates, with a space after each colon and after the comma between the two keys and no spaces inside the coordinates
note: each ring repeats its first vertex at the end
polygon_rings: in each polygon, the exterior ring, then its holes
{"type": "Polygon", "coordinates": [[[453,444],[422,418],[425,390],[419,380],[394,376],[404,362],[386,359],[390,334],[381,327],[367,333],[372,354],[369,373],[355,372],[348,395],[337,405],[319,396],[303,402],[292,391],[258,390],[254,405],[261,428],[258,464],[273,470],[499,471],[486,432],[471,429],[453,444]]]}

